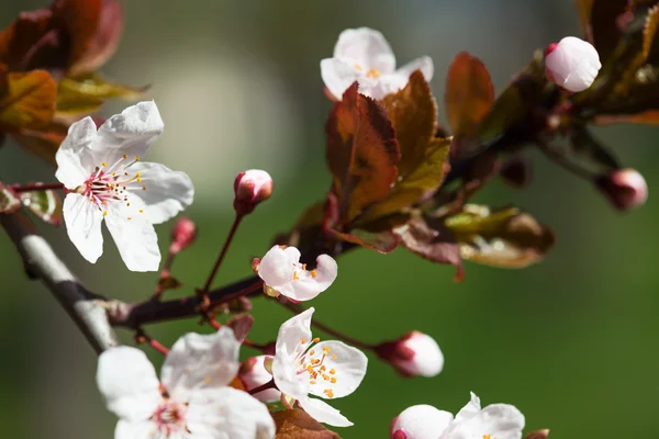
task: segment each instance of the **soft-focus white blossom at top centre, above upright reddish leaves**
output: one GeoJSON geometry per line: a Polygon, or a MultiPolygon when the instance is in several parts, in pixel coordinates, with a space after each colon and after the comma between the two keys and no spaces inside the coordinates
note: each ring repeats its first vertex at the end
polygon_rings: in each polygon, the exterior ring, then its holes
{"type": "Polygon", "coordinates": [[[334,56],[321,61],[325,87],[339,101],[355,81],[359,82],[360,93],[382,99],[404,88],[415,70],[421,70],[429,81],[434,74],[433,60],[423,56],[396,70],[395,56],[387,40],[368,27],[343,31],[334,46],[334,56]]]}

